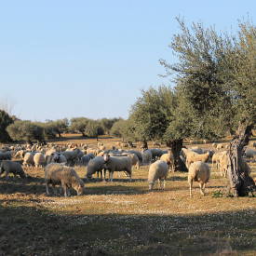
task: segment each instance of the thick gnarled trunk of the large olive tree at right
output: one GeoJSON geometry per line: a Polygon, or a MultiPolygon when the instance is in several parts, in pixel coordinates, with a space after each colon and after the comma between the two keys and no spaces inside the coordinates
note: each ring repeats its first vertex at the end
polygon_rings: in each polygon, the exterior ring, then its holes
{"type": "Polygon", "coordinates": [[[227,152],[227,173],[229,183],[223,189],[224,195],[246,196],[256,195],[255,182],[249,177],[247,170],[242,164],[242,150],[249,143],[251,126],[248,121],[243,121],[239,125],[238,134],[233,137],[227,152]]]}

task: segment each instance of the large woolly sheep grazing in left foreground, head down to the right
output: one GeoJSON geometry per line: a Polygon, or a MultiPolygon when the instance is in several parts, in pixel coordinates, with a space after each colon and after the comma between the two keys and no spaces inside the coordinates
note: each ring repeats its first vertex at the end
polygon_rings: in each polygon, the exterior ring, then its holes
{"type": "Polygon", "coordinates": [[[82,195],[85,190],[85,183],[77,175],[74,168],[61,164],[49,164],[45,167],[45,181],[47,195],[49,195],[48,185],[52,183],[54,195],[57,195],[55,185],[60,184],[64,188],[64,195],[70,196],[70,188],[73,187],[77,195],[82,195]]]}

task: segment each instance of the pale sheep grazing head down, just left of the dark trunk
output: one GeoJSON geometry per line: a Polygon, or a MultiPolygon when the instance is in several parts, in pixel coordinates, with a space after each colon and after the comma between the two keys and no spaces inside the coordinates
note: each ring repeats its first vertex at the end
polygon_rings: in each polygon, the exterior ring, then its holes
{"type": "Polygon", "coordinates": [[[149,189],[152,190],[155,181],[159,180],[159,189],[162,189],[161,180],[164,178],[164,187],[166,187],[166,181],[168,176],[168,164],[164,160],[157,160],[153,163],[148,172],[149,189]]]}

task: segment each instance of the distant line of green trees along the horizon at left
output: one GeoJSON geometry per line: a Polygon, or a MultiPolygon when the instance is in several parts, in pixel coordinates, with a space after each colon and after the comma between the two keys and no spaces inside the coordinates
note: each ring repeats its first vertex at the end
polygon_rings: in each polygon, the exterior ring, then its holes
{"type": "Polygon", "coordinates": [[[61,137],[61,134],[74,132],[81,133],[84,137],[98,138],[98,136],[111,134],[115,122],[123,120],[119,118],[101,118],[98,120],[87,117],[74,117],[58,120],[46,120],[46,122],[32,122],[20,120],[14,115],[8,115],[5,110],[0,110],[0,142],[7,141],[32,141],[43,142],[49,139],[61,137]]]}

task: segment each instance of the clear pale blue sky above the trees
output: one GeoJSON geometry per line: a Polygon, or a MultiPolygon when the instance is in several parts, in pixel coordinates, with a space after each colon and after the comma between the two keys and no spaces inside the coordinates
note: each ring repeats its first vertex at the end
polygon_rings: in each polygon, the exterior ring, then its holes
{"type": "Polygon", "coordinates": [[[223,31],[248,15],[254,0],[0,0],[0,103],[21,120],[127,119],[141,89],[170,83],[177,17],[223,31]]]}

